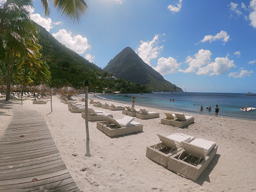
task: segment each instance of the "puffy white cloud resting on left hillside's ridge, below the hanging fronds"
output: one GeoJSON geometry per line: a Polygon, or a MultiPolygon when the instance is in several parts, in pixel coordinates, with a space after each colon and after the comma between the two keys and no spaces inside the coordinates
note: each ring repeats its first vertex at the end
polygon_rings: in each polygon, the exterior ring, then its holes
{"type": "Polygon", "coordinates": [[[60,29],[57,33],[53,33],[52,36],[78,54],[83,54],[86,50],[91,49],[91,45],[88,44],[86,37],[81,35],[72,36],[72,33],[67,32],[65,29],[60,29]]]}

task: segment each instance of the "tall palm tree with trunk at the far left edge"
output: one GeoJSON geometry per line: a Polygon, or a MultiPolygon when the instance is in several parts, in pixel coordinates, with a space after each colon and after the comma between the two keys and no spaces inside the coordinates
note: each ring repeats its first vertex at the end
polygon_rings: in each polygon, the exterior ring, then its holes
{"type": "Polygon", "coordinates": [[[0,6],[0,47],[5,49],[8,66],[6,100],[10,99],[10,84],[17,58],[36,58],[36,52],[31,49],[31,45],[37,42],[36,26],[26,9],[31,5],[31,0],[7,0],[0,6]]]}

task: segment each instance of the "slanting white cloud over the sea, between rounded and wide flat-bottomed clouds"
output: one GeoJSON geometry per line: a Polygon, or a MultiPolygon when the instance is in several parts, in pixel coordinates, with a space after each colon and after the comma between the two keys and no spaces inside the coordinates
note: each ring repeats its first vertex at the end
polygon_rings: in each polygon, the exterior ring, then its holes
{"type": "Polygon", "coordinates": [[[198,68],[207,65],[211,62],[211,51],[200,49],[193,56],[187,56],[185,63],[188,63],[189,67],[185,70],[180,69],[181,72],[190,73],[195,72],[198,68]]]}

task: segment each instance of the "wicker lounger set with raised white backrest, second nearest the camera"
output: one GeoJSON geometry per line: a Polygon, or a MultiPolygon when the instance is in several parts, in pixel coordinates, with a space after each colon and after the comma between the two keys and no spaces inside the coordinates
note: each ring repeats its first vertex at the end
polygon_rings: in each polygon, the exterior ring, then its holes
{"type": "Polygon", "coordinates": [[[143,125],[139,122],[135,122],[134,118],[131,116],[125,116],[118,120],[107,117],[106,121],[97,122],[97,129],[104,132],[109,137],[113,137],[141,132],[143,131],[143,125]]]}

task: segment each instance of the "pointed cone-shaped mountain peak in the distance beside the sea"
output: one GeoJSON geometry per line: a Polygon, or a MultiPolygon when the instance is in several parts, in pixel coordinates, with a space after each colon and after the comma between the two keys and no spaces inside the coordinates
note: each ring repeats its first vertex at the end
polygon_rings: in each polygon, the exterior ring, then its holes
{"type": "Polygon", "coordinates": [[[131,47],[119,52],[103,70],[111,72],[118,78],[147,85],[154,91],[183,92],[181,88],[166,81],[159,72],[141,60],[131,47]]]}

